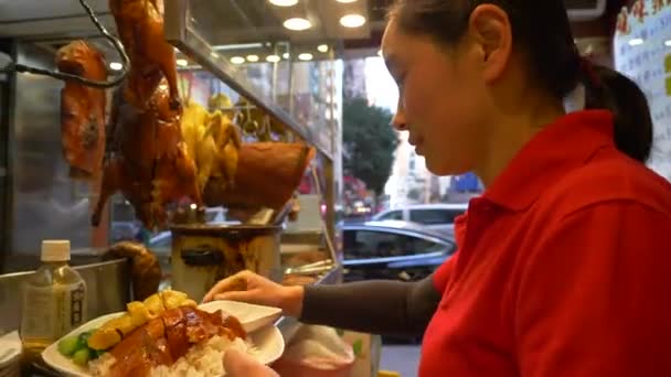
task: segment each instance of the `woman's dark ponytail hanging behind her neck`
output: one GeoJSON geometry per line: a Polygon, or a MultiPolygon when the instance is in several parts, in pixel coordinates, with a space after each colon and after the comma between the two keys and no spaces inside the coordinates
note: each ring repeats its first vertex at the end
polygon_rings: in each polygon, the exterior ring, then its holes
{"type": "Polygon", "coordinates": [[[652,117],[648,99],[625,75],[598,65],[584,65],[585,108],[607,109],[614,115],[617,149],[646,162],[652,149],[652,117]]]}

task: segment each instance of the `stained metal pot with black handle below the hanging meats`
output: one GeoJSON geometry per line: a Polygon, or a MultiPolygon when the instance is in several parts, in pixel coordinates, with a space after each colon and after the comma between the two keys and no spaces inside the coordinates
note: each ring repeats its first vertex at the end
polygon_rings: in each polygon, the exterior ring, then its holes
{"type": "Polygon", "coordinates": [[[172,289],[193,300],[243,270],[281,281],[279,226],[183,225],[171,231],[172,289]]]}

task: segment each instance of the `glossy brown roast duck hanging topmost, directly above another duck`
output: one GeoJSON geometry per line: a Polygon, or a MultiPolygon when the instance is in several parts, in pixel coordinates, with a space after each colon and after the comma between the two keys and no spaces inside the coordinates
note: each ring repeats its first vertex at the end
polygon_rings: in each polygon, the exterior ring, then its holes
{"type": "Polygon", "coordinates": [[[109,0],[119,39],[128,52],[131,69],[126,100],[137,108],[148,106],[162,77],[168,80],[170,106],[180,107],[174,47],[163,33],[158,0],[109,0]]]}

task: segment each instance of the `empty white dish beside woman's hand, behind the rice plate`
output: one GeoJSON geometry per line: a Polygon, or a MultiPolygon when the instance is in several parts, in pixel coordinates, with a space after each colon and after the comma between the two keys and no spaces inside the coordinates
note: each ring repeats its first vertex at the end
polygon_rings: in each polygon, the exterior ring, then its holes
{"type": "Polygon", "coordinates": [[[222,310],[237,317],[247,333],[274,324],[281,316],[281,309],[253,305],[236,301],[211,301],[198,306],[205,312],[222,310]]]}

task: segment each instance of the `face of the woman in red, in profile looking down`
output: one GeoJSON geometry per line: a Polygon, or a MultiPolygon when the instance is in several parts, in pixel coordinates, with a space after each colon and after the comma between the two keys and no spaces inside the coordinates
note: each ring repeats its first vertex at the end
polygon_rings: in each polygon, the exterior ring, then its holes
{"type": "Polygon", "coordinates": [[[472,45],[466,36],[447,50],[428,36],[404,33],[394,20],[382,41],[400,91],[394,127],[409,131],[434,174],[471,171],[482,152],[487,94],[472,45]]]}

